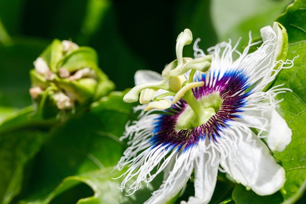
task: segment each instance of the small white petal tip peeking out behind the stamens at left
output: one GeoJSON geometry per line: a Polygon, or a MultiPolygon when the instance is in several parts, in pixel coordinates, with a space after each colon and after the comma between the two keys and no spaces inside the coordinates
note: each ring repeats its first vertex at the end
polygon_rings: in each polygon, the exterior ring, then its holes
{"type": "Polygon", "coordinates": [[[151,70],[138,70],[134,75],[135,85],[148,82],[161,81],[163,78],[161,75],[155,71],[151,70]]]}

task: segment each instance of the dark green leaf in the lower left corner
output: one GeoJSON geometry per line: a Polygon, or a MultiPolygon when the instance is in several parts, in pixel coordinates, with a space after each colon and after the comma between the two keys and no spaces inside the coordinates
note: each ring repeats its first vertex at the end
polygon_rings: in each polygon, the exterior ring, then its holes
{"type": "Polygon", "coordinates": [[[8,204],[21,191],[24,165],[40,150],[46,133],[20,129],[0,136],[0,203],[8,204]]]}

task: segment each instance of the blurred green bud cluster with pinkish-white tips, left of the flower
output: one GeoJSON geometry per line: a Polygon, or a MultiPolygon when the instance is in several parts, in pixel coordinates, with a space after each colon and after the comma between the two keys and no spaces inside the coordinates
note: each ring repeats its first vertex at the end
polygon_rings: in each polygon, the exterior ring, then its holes
{"type": "Polygon", "coordinates": [[[114,89],[98,67],[96,51],[66,40],[54,40],[43,51],[30,70],[30,79],[30,95],[43,117],[67,110],[74,113],[114,89]]]}

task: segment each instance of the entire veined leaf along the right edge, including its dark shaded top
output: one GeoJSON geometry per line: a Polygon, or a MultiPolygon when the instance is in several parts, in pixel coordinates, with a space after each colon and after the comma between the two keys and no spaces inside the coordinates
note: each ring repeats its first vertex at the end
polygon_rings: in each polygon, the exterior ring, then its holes
{"type": "Polygon", "coordinates": [[[285,204],[296,202],[306,190],[306,35],[301,31],[305,26],[305,18],[293,18],[296,15],[306,16],[306,1],[296,0],[288,6],[286,12],[277,20],[282,23],[288,32],[289,47],[288,59],[294,60],[292,68],[284,69],[277,78],[275,85],[284,84],[292,90],[278,94],[278,99],[284,100],[280,103],[279,113],[287,121],[292,130],[291,143],[283,152],[274,154],[276,159],[282,161],[286,171],[287,181],[281,190],[285,204]]]}

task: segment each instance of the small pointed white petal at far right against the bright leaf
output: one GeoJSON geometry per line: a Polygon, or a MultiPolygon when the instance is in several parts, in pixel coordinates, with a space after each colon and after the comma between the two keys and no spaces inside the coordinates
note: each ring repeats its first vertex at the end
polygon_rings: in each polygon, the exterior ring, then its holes
{"type": "Polygon", "coordinates": [[[291,141],[292,132],[286,121],[275,110],[272,111],[267,143],[272,151],[283,151],[291,141]]]}

